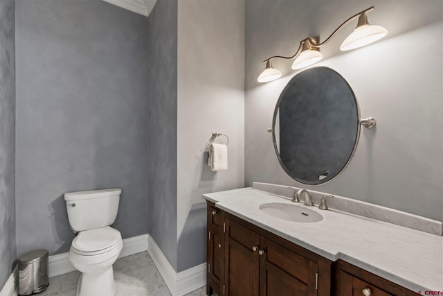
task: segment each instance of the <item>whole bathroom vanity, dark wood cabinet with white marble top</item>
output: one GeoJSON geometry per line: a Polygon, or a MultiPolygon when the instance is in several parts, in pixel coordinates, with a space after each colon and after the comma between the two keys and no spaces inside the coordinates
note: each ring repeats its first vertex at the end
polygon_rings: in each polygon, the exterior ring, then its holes
{"type": "Polygon", "coordinates": [[[282,220],[260,205],[293,203],[251,188],[204,198],[208,295],[406,296],[443,289],[442,236],[304,204],[297,207],[323,219],[282,220]]]}

